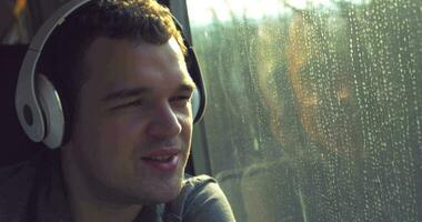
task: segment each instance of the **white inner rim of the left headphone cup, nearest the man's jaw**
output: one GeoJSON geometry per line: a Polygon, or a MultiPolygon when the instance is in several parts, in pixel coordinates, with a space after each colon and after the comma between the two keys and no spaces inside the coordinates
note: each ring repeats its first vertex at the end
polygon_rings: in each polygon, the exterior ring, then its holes
{"type": "Polygon", "coordinates": [[[46,75],[36,74],[37,100],[44,118],[46,137],[42,142],[50,149],[61,145],[64,135],[64,115],[59,94],[46,75]]]}

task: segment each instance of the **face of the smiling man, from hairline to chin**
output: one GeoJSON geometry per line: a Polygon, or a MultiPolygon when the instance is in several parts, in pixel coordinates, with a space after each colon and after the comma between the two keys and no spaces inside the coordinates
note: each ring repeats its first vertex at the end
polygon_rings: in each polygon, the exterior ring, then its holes
{"type": "Polygon", "coordinates": [[[180,190],[194,83],[174,39],[162,46],[98,38],[63,155],[79,186],[104,201],[161,203],[180,190]],[[82,185],[81,185],[82,184],[82,185]]]}

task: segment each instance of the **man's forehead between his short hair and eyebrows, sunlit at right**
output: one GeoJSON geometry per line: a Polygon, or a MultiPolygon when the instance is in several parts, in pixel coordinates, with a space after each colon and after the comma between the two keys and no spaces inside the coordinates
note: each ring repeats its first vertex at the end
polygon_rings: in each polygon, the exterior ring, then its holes
{"type": "Polygon", "coordinates": [[[139,84],[193,83],[183,53],[173,38],[160,46],[98,38],[88,48],[84,61],[89,82],[109,90],[139,84]]]}

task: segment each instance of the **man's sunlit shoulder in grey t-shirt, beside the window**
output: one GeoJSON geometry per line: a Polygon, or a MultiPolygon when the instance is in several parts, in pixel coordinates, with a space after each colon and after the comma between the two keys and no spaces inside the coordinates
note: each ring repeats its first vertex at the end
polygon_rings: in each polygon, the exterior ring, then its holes
{"type": "Polygon", "coordinates": [[[209,175],[187,176],[171,209],[185,222],[232,222],[234,216],[220,185],[209,175]],[[180,212],[178,212],[180,211],[180,212]]]}

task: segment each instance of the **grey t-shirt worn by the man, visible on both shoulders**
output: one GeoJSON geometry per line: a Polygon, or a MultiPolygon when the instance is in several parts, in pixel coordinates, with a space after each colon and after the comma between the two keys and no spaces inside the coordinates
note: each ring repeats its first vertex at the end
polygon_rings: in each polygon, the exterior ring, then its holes
{"type": "MultiPolygon", "coordinates": [[[[40,153],[28,162],[0,169],[0,221],[70,222],[58,161],[40,153]],[[59,188],[59,189],[58,189],[59,188]]],[[[134,222],[232,222],[230,204],[217,181],[185,175],[180,195],[144,205],[134,222]]]]}

